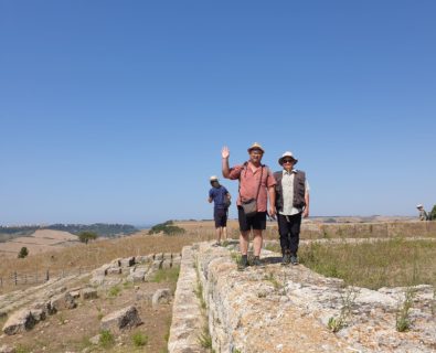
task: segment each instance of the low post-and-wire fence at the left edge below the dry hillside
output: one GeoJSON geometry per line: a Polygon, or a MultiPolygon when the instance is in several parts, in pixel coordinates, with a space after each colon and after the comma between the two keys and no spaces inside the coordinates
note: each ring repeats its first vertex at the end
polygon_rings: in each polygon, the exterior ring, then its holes
{"type": "Polygon", "coordinates": [[[46,270],[35,270],[34,272],[10,272],[6,277],[0,277],[0,288],[10,286],[32,286],[44,284],[50,279],[65,278],[70,276],[79,276],[85,272],[93,270],[94,267],[78,267],[68,269],[46,269],[46,270]]]}

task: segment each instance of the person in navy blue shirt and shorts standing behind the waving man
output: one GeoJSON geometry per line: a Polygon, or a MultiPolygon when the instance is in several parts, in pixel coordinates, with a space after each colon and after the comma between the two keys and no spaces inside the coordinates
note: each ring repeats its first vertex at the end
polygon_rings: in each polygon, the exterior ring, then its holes
{"type": "Polygon", "coordinates": [[[227,215],[228,206],[232,200],[227,189],[220,184],[217,176],[210,178],[212,189],[209,191],[209,203],[214,203],[213,218],[215,221],[216,243],[214,246],[221,245],[221,239],[227,239],[227,215]]]}

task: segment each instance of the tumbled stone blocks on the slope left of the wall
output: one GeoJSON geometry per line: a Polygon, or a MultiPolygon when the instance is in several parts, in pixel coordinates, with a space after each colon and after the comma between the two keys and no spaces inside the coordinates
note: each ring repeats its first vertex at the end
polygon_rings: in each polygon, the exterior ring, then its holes
{"type": "MultiPolygon", "coordinates": [[[[0,297],[0,317],[7,317],[2,331],[8,335],[13,335],[31,330],[38,322],[45,320],[47,315],[62,310],[72,310],[77,307],[76,300],[93,300],[97,298],[97,289],[87,285],[77,287],[77,282],[86,281],[91,286],[107,289],[111,286],[127,282],[146,281],[162,268],[167,261],[167,267],[172,267],[173,261],[180,264],[180,254],[156,254],[148,256],[137,256],[119,258],[110,264],[105,264],[91,274],[71,276],[63,279],[55,279],[38,287],[30,287],[23,291],[14,291],[0,297]],[[156,260],[156,258],[158,260],[156,260]],[[126,274],[126,278],[123,277],[126,274]],[[129,275],[128,275],[129,274],[129,275]],[[91,277],[91,278],[89,278],[91,277]],[[70,287],[70,289],[67,288],[70,287]]],[[[169,302],[171,292],[160,291],[156,293],[156,304],[169,302]]],[[[151,297],[149,298],[151,300],[151,297]]],[[[125,328],[137,325],[141,322],[135,315],[136,309],[128,308],[121,319],[108,317],[104,327],[125,328]],[[118,321],[117,321],[118,320],[118,321]],[[111,324],[118,322],[117,324],[111,324]]]]}

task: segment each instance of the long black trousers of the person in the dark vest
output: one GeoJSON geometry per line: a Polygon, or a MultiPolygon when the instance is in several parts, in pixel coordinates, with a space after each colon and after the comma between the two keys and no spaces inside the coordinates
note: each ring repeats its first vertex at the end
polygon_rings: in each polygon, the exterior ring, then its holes
{"type": "Polygon", "coordinates": [[[278,233],[280,234],[281,253],[290,252],[297,255],[300,242],[301,213],[284,216],[277,214],[278,233]]]}

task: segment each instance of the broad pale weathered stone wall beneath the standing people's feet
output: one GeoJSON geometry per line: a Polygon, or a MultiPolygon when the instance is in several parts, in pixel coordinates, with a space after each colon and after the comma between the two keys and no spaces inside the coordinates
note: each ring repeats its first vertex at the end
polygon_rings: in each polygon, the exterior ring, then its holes
{"type": "MultiPolygon", "coordinates": [[[[264,268],[237,271],[231,250],[232,246],[214,248],[208,243],[183,249],[183,255],[195,258],[216,352],[436,352],[435,297],[429,286],[377,291],[344,287],[341,280],[301,265],[283,267],[278,255],[267,250],[264,268]],[[414,292],[411,330],[397,332],[396,315],[407,290],[414,292]]],[[[189,279],[193,292],[195,271],[183,269],[193,267],[183,260],[179,281],[189,279]]],[[[176,300],[174,317],[180,304],[176,300]]],[[[171,343],[170,352],[182,352],[171,343]]]]}

